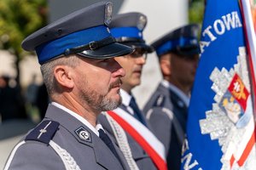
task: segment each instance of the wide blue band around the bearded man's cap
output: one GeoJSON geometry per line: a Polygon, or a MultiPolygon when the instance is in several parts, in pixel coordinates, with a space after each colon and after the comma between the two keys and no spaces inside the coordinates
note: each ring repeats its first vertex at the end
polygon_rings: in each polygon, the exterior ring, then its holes
{"type": "Polygon", "coordinates": [[[65,53],[67,48],[75,48],[92,41],[100,41],[112,37],[107,26],[96,26],[82,31],[76,31],[51,42],[45,42],[36,48],[39,63],[42,65],[49,59],[65,53]]]}

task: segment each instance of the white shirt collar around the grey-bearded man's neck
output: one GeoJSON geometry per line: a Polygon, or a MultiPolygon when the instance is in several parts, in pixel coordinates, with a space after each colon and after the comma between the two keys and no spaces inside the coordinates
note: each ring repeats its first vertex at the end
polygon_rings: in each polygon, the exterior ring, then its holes
{"type": "MultiPolygon", "coordinates": [[[[84,119],[84,117],[79,116],[79,114],[67,109],[67,107],[60,105],[56,102],[52,102],[51,105],[55,105],[56,107],[60,108],[63,111],[66,111],[67,113],[69,113],[71,116],[74,116],[76,119],[78,119],[80,122],[82,122],[86,127],[90,128],[90,130],[94,133],[96,133],[97,136],[99,136],[99,132],[98,130],[100,128],[103,129],[102,125],[98,122],[96,122],[96,127],[93,127],[90,122],[88,122],[86,119],[84,119]]],[[[104,130],[104,129],[103,129],[104,130]]]]}

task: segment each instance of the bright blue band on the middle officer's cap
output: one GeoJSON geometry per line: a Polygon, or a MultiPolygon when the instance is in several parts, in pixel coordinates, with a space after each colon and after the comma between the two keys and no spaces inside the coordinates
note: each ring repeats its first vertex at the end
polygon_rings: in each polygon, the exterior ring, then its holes
{"type": "Polygon", "coordinates": [[[111,29],[111,34],[115,38],[136,37],[143,39],[143,32],[137,29],[137,27],[114,27],[111,29]]]}

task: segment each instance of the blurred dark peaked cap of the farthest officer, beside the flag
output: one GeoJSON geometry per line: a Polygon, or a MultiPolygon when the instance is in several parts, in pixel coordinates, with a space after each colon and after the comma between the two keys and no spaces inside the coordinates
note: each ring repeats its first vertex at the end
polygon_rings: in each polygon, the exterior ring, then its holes
{"type": "Polygon", "coordinates": [[[200,54],[198,33],[199,26],[196,24],[182,26],[160,37],[151,45],[159,57],[169,52],[193,56],[194,54],[200,54]]]}

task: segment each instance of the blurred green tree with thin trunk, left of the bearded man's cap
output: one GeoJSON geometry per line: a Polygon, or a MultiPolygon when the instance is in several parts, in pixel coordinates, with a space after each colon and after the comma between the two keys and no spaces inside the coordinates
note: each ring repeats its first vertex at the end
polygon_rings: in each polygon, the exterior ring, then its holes
{"type": "Polygon", "coordinates": [[[46,0],[0,1],[0,48],[15,54],[18,85],[20,85],[19,63],[26,55],[20,44],[26,36],[46,25],[46,6],[46,0]]]}

